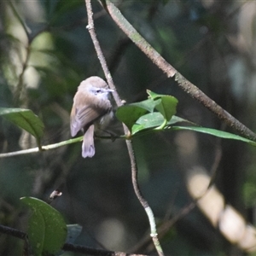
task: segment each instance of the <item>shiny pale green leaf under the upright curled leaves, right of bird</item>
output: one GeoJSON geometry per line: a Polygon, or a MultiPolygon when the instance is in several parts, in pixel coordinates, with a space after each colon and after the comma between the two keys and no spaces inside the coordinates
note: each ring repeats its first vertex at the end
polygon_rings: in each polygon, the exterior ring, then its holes
{"type": "MultiPolygon", "coordinates": [[[[148,131],[148,129],[154,129],[159,127],[165,121],[163,115],[159,112],[154,113],[147,113],[144,114],[142,117],[137,119],[136,124],[132,126],[131,134],[134,135],[139,131],[148,131]]],[[[172,116],[172,119],[167,122],[166,125],[174,125],[177,122],[187,122],[190,123],[186,119],[179,118],[175,115],[172,116]]],[[[191,124],[191,123],[190,123],[191,124]]]]}

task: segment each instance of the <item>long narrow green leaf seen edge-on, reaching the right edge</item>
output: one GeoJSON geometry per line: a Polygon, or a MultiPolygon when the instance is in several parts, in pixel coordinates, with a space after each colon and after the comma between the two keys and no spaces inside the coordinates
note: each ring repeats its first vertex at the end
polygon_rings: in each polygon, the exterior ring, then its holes
{"type": "Polygon", "coordinates": [[[201,132],[201,133],[206,133],[215,137],[222,137],[225,139],[231,139],[231,140],[237,140],[237,141],[241,141],[244,143],[249,143],[253,146],[256,146],[256,143],[245,138],[245,137],[241,137],[239,135],[227,132],[227,131],[219,131],[219,130],[215,130],[212,128],[205,128],[205,127],[198,127],[198,126],[171,126],[167,129],[170,130],[189,130],[189,131],[197,131],[197,132],[201,132]]]}

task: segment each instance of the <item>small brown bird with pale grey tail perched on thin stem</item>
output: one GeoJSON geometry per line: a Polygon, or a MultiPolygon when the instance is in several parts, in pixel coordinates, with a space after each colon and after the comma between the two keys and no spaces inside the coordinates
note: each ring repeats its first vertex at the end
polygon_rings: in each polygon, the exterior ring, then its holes
{"type": "Polygon", "coordinates": [[[106,127],[113,117],[112,105],[108,99],[108,84],[99,77],[90,77],[79,84],[73,98],[70,114],[70,131],[74,137],[81,130],[84,132],[82,156],[95,154],[94,132],[106,127]]]}

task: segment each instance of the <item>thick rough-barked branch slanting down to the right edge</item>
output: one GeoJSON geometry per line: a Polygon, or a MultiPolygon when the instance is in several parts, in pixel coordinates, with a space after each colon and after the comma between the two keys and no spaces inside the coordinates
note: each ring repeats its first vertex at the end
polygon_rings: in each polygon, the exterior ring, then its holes
{"type": "Polygon", "coordinates": [[[110,0],[106,0],[106,8],[108,14],[116,22],[119,28],[125,32],[125,34],[131,38],[131,41],[137,45],[139,49],[143,51],[148,58],[154,62],[164,73],[167,78],[172,78],[177,81],[177,85],[180,86],[189,96],[195,98],[203,106],[208,108],[212,113],[218,116],[218,119],[223,120],[227,125],[241,134],[243,137],[247,137],[253,141],[256,141],[256,134],[247,128],[247,126],[241,124],[236,118],[228,113],[224,108],[221,108],[216,102],[212,101],[206,94],[204,94],[199,88],[185,79],[181,73],[172,67],[148,42],[137,32],[137,30],[131,26],[128,20],[120,13],[110,0]]]}

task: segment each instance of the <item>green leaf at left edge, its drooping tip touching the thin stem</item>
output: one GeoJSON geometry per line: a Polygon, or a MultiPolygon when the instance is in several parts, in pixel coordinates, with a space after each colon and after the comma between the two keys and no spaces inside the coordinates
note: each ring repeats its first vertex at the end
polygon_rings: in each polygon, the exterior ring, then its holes
{"type": "Polygon", "coordinates": [[[0,108],[0,115],[21,129],[28,131],[33,137],[36,137],[38,146],[40,146],[40,138],[44,134],[44,124],[32,110],[25,108],[0,108]]]}

